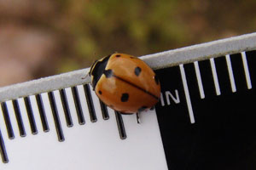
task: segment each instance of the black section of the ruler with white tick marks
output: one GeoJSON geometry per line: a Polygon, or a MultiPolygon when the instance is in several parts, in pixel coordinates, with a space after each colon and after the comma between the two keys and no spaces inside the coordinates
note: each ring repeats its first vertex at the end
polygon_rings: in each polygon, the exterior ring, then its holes
{"type": "Polygon", "coordinates": [[[256,169],[256,51],[156,71],[171,170],[256,169]]]}

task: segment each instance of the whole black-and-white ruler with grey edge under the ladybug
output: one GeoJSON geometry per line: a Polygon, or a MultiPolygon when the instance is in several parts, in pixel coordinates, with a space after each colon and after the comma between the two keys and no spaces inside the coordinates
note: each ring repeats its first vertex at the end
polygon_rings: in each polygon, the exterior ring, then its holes
{"type": "Polygon", "coordinates": [[[253,169],[256,34],[143,56],[152,111],[123,116],[88,69],[0,88],[0,169],[253,169]]]}

